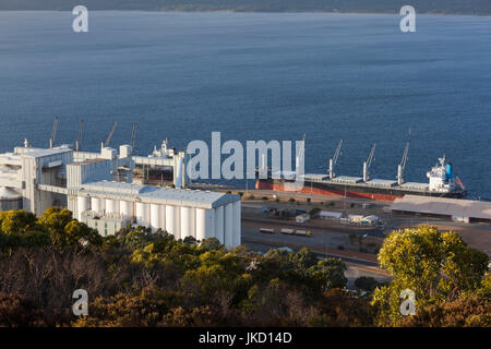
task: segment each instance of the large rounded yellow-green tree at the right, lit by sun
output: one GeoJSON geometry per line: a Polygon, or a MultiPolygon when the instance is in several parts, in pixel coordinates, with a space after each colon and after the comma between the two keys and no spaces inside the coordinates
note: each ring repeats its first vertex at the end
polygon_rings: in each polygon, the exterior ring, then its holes
{"type": "Polygon", "coordinates": [[[476,292],[488,256],[468,248],[454,232],[419,227],[392,232],[379,253],[379,263],[391,273],[392,281],[374,291],[372,304],[379,310],[379,324],[393,325],[402,316],[404,289],[415,292],[417,309],[476,292]]]}

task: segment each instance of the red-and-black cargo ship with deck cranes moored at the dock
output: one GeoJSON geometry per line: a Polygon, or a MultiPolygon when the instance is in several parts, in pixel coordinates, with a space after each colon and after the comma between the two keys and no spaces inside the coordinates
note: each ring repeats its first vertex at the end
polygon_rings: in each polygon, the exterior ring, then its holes
{"type": "Polygon", "coordinates": [[[300,181],[296,182],[297,173],[295,171],[272,172],[271,169],[259,169],[256,170],[255,189],[380,201],[394,201],[406,194],[456,198],[466,195],[464,183],[458,177],[454,178],[453,165],[446,161],[445,156],[439,158],[439,163],[427,172],[429,179],[427,183],[405,182],[403,173],[407,163],[409,144],[406,145],[403,160],[398,165],[396,180],[370,178],[369,169],[375,145],[373,145],[368,160],[363,163],[363,177],[337,177],[334,173],[334,165],[339,156],[342,144],[343,141],[339,143],[334,157],[330,159],[328,173],[300,174],[298,177],[300,181]]]}

